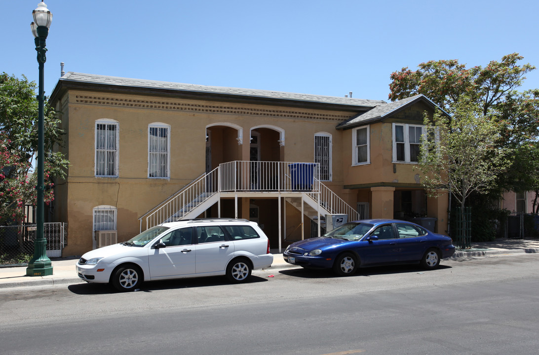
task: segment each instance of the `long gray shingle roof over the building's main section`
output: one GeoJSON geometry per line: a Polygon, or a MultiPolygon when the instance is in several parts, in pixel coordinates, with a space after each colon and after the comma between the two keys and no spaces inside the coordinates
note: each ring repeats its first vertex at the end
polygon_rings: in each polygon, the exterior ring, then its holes
{"type": "Polygon", "coordinates": [[[81,83],[94,83],[100,85],[113,85],[122,87],[141,87],[149,89],[167,89],[179,92],[197,92],[223,95],[248,96],[254,98],[267,98],[277,100],[293,100],[303,102],[329,103],[331,105],[346,105],[359,107],[376,107],[385,104],[382,100],[363,100],[353,98],[338,98],[335,96],[310,95],[298,93],[286,93],[259,89],[241,89],[220,86],[205,86],[185,84],[178,82],[120,78],[117,76],[94,75],[68,72],[60,78],[60,81],[81,83]]]}

